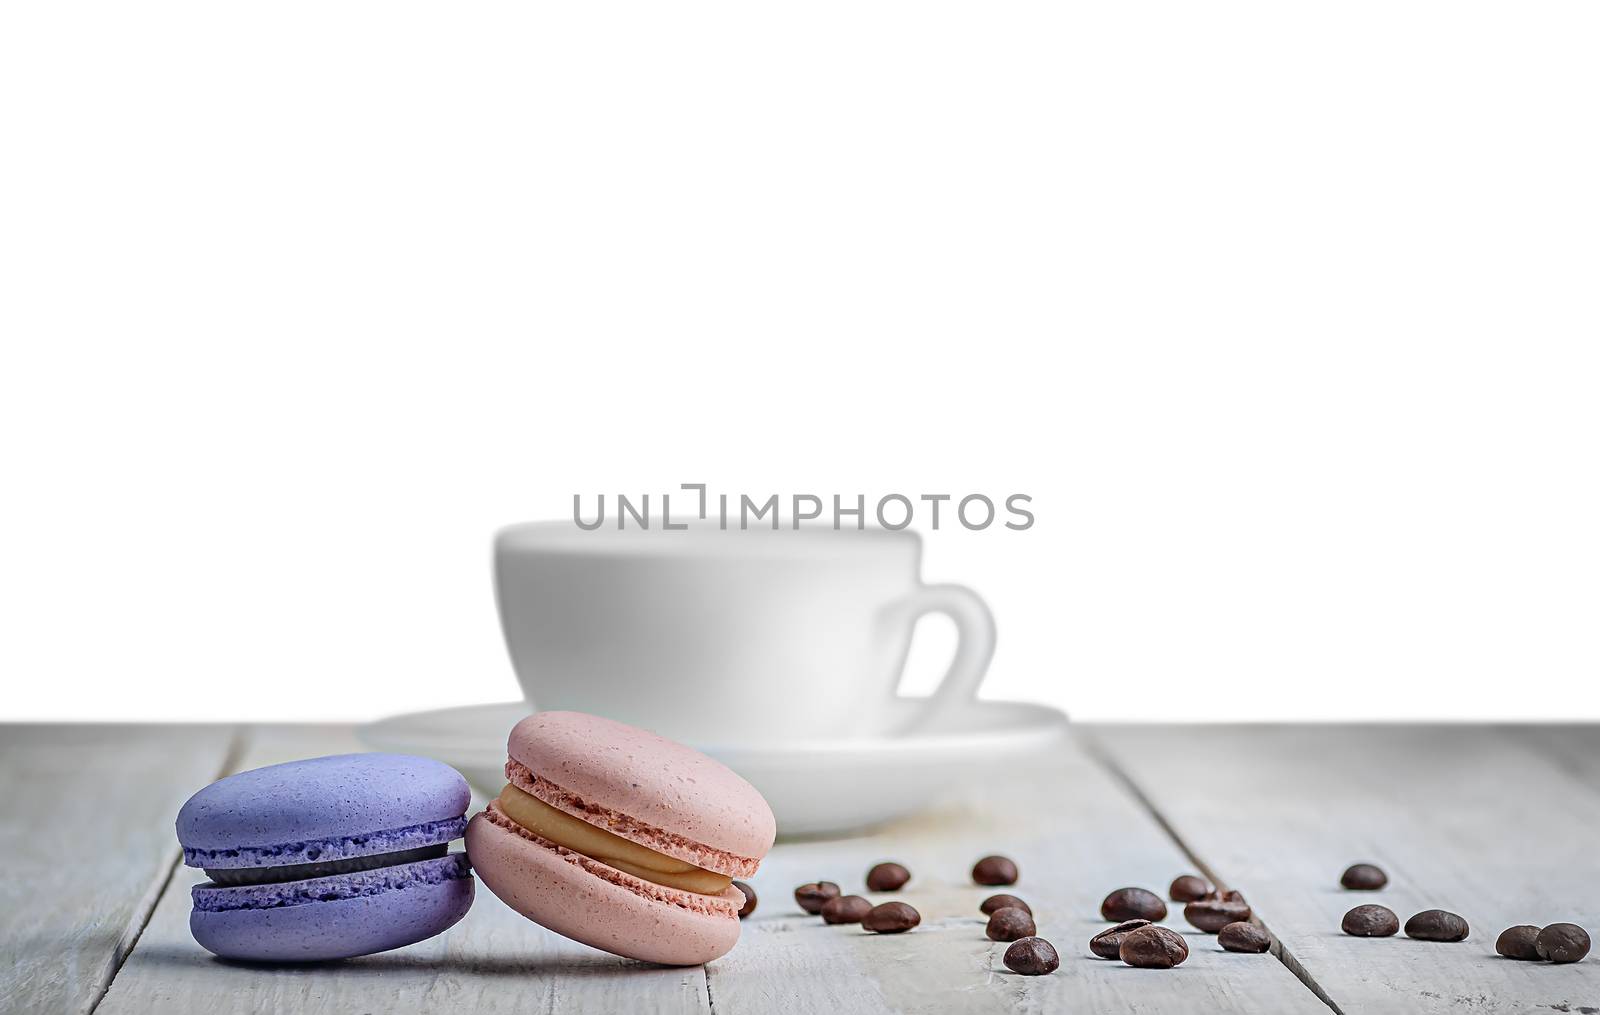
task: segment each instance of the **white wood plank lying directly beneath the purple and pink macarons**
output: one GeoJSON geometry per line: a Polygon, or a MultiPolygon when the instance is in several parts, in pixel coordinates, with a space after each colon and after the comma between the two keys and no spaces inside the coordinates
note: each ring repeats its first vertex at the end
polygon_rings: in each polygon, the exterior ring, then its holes
{"type": "MultiPolygon", "coordinates": [[[[344,727],[262,727],[240,768],[362,749],[344,727]]],[[[466,919],[408,948],[310,967],[224,962],[189,935],[189,889],[200,881],[179,869],[98,1015],[709,1010],[702,969],[643,965],[568,941],[482,885],[466,919]]]]}

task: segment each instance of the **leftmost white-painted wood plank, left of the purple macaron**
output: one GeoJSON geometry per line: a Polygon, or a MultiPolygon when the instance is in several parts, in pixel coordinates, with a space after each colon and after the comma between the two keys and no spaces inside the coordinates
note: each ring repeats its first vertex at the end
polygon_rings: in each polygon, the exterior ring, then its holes
{"type": "Polygon", "coordinates": [[[86,1012],[178,861],[227,727],[0,728],[0,1012],[86,1012]]]}

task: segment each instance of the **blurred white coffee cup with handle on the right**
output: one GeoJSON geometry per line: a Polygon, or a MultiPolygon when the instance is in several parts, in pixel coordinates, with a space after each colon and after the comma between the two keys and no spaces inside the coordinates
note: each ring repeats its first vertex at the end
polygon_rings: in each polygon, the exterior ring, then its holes
{"type": "Polygon", "coordinates": [[[970,701],[994,618],[965,586],[923,584],[920,565],[909,530],[533,522],[494,540],[528,701],[707,746],[902,735],[970,701]],[[907,719],[896,687],[925,613],[954,620],[960,642],[907,719]]]}

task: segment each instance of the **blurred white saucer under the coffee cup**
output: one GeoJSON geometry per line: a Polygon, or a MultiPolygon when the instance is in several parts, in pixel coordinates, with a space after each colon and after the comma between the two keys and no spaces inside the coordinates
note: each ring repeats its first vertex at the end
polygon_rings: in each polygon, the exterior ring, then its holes
{"type": "MultiPolygon", "coordinates": [[[[506,784],[506,735],[528,711],[523,701],[504,701],[413,712],[365,725],[360,735],[381,751],[454,765],[493,796],[506,784]]],[[[762,791],[779,836],[819,836],[922,810],[952,786],[1058,744],[1066,728],[1066,714],[1045,704],[974,701],[912,736],[699,749],[762,791]]]]}

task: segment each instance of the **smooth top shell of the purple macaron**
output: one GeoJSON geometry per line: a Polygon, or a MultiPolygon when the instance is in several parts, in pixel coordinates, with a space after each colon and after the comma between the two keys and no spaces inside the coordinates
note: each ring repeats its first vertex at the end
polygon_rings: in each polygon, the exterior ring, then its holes
{"type": "Polygon", "coordinates": [[[389,847],[365,836],[461,816],[470,799],[459,772],[427,757],[312,757],[211,783],[178,812],[178,842],[211,866],[229,850],[251,850],[258,863],[301,863],[304,847],[326,849],[323,840],[344,840],[342,857],[370,855],[389,847]]]}

